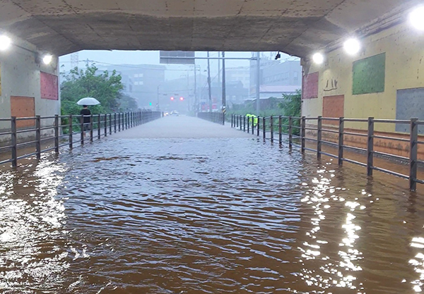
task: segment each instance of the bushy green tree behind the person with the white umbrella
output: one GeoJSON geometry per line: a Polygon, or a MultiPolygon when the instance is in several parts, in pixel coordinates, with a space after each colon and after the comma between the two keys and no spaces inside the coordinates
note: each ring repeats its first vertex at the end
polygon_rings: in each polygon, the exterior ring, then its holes
{"type": "Polygon", "coordinates": [[[61,114],[79,114],[81,106],[76,105],[79,99],[94,97],[100,105],[91,106],[93,113],[107,113],[117,111],[121,91],[124,85],[121,75],[116,71],[98,73],[98,68],[93,64],[85,70],[73,68],[69,74],[62,74],[64,82],[61,83],[61,114]]]}

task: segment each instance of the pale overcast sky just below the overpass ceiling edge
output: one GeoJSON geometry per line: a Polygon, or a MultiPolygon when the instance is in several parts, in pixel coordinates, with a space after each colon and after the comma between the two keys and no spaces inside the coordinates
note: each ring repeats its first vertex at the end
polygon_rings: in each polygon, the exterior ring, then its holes
{"type": "MultiPolygon", "coordinates": [[[[264,56],[275,56],[276,52],[265,52],[264,56]]],[[[196,52],[196,57],[206,57],[206,52],[196,52]]],[[[217,57],[218,52],[211,52],[211,57],[217,57]]],[[[249,58],[252,57],[251,52],[225,52],[225,57],[243,57],[249,58]]],[[[286,54],[281,54],[281,59],[287,59],[290,56],[286,54]]],[[[118,65],[118,64],[160,64],[159,63],[159,51],[94,51],[94,50],[84,50],[78,52],[79,66],[85,66],[86,60],[95,61],[98,66],[107,66],[107,65],[118,65]]],[[[294,59],[294,58],[291,58],[294,59]]],[[[64,66],[66,71],[69,71],[71,68],[71,55],[61,56],[59,58],[61,65],[64,66]]],[[[249,66],[248,60],[228,60],[225,61],[225,65],[228,68],[238,67],[238,66],[249,66]]],[[[201,66],[201,72],[204,73],[207,69],[206,60],[196,60],[196,65],[201,66]]],[[[189,69],[189,66],[179,66],[179,65],[167,65],[167,68],[171,71],[165,73],[165,78],[167,80],[173,78],[180,78],[184,73],[191,74],[192,70],[189,69]]],[[[216,75],[218,73],[218,61],[211,60],[211,75],[216,75]]],[[[206,74],[206,73],[205,73],[206,74]]]]}

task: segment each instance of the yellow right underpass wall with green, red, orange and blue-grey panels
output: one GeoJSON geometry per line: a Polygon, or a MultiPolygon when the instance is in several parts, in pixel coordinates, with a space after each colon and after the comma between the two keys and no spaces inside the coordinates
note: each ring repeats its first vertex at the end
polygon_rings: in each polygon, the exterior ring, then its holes
{"type": "MultiPolygon", "coordinates": [[[[402,23],[362,42],[357,56],[336,49],[322,65],[303,61],[302,115],[424,120],[424,33],[402,23]]],[[[345,128],[365,132],[367,123],[345,123],[345,128]]],[[[376,123],[375,130],[408,137],[409,126],[376,123]]],[[[349,145],[365,147],[360,137],[346,139],[349,145]]],[[[408,155],[408,143],[375,140],[375,145],[382,152],[408,155]]]]}

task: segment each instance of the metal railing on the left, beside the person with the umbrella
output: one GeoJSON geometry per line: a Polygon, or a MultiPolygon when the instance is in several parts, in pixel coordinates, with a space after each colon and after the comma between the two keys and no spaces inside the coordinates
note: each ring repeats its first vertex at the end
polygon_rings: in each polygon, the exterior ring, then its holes
{"type": "MultiPolygon", "coordinates": [[[[10,138],[9,144],[0,147],[0,154],[10,152],[11,156],[9,159],[0,161],[1,164],[11,163],[13,167],[18,166],[18,160],[28,157],[36,156],[37,159],[41,159],[41,154],[54,150],[55,153],[59,153],[59,148],[69,146],[72,149],[74,143],[79,143],[83,146],[87,140],[93,142],[95,140],[93,130],[97,130],[97,139],[112,135],[112,133],[120,132],[132,128],[136,125],[148,123],[155,119],[163,116],[160,111],[131,111],[124,113],[114,114],[94,114],[90,116],[35,116],[28,118],[17,118],[12,116],[11,118],[0,118],[1,123],[10,123],[9,129],[6,132],[0,133],[0,139],[10,138]],[[84,123],[84,118],[90,118],[89,123],[84,123]],[[53,120],[54,123],[51,126],[42,127],[43,120],[53,120]],[[18,130],[19,121],[35,121],[35,128],[23,128],[18,130]],[[64,124],[60,122],[66,122],[64,124]],[[42,137],[42,131],[52,130],[54,135],[42,137]],[[88,139],[85,138],[86,133],[89,133],[88,139]],[[18,134],[29,133],[29,135],[35,136],[35,140],[18,142],[18,134]],[[75,140],[74,136],[79,135],[79,139],[75,140]],[[66,142],[64,142],[64,140],[66,142]],[[53,142],[53,147],[47,147],[42,149],[43,142],[53,142]],[[35,145],[35,152],[26,153],[18,156],[18,149],[28,145],[35,145]]],[[[7,139],[6,139],[7,140],[7,139]]]]}

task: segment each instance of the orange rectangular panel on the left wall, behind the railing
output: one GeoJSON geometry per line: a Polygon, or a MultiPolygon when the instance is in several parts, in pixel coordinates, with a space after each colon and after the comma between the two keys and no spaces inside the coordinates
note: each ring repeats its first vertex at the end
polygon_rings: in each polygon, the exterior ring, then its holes
{"type": "MultiPolygon", "coordinates": [[[[11,96],[11,115],[17,118],[35,116],[34,97],[11,96]]],[[[17,121],[17,128],[27,128],[35,125],[35,120],[17,121]]]]}

